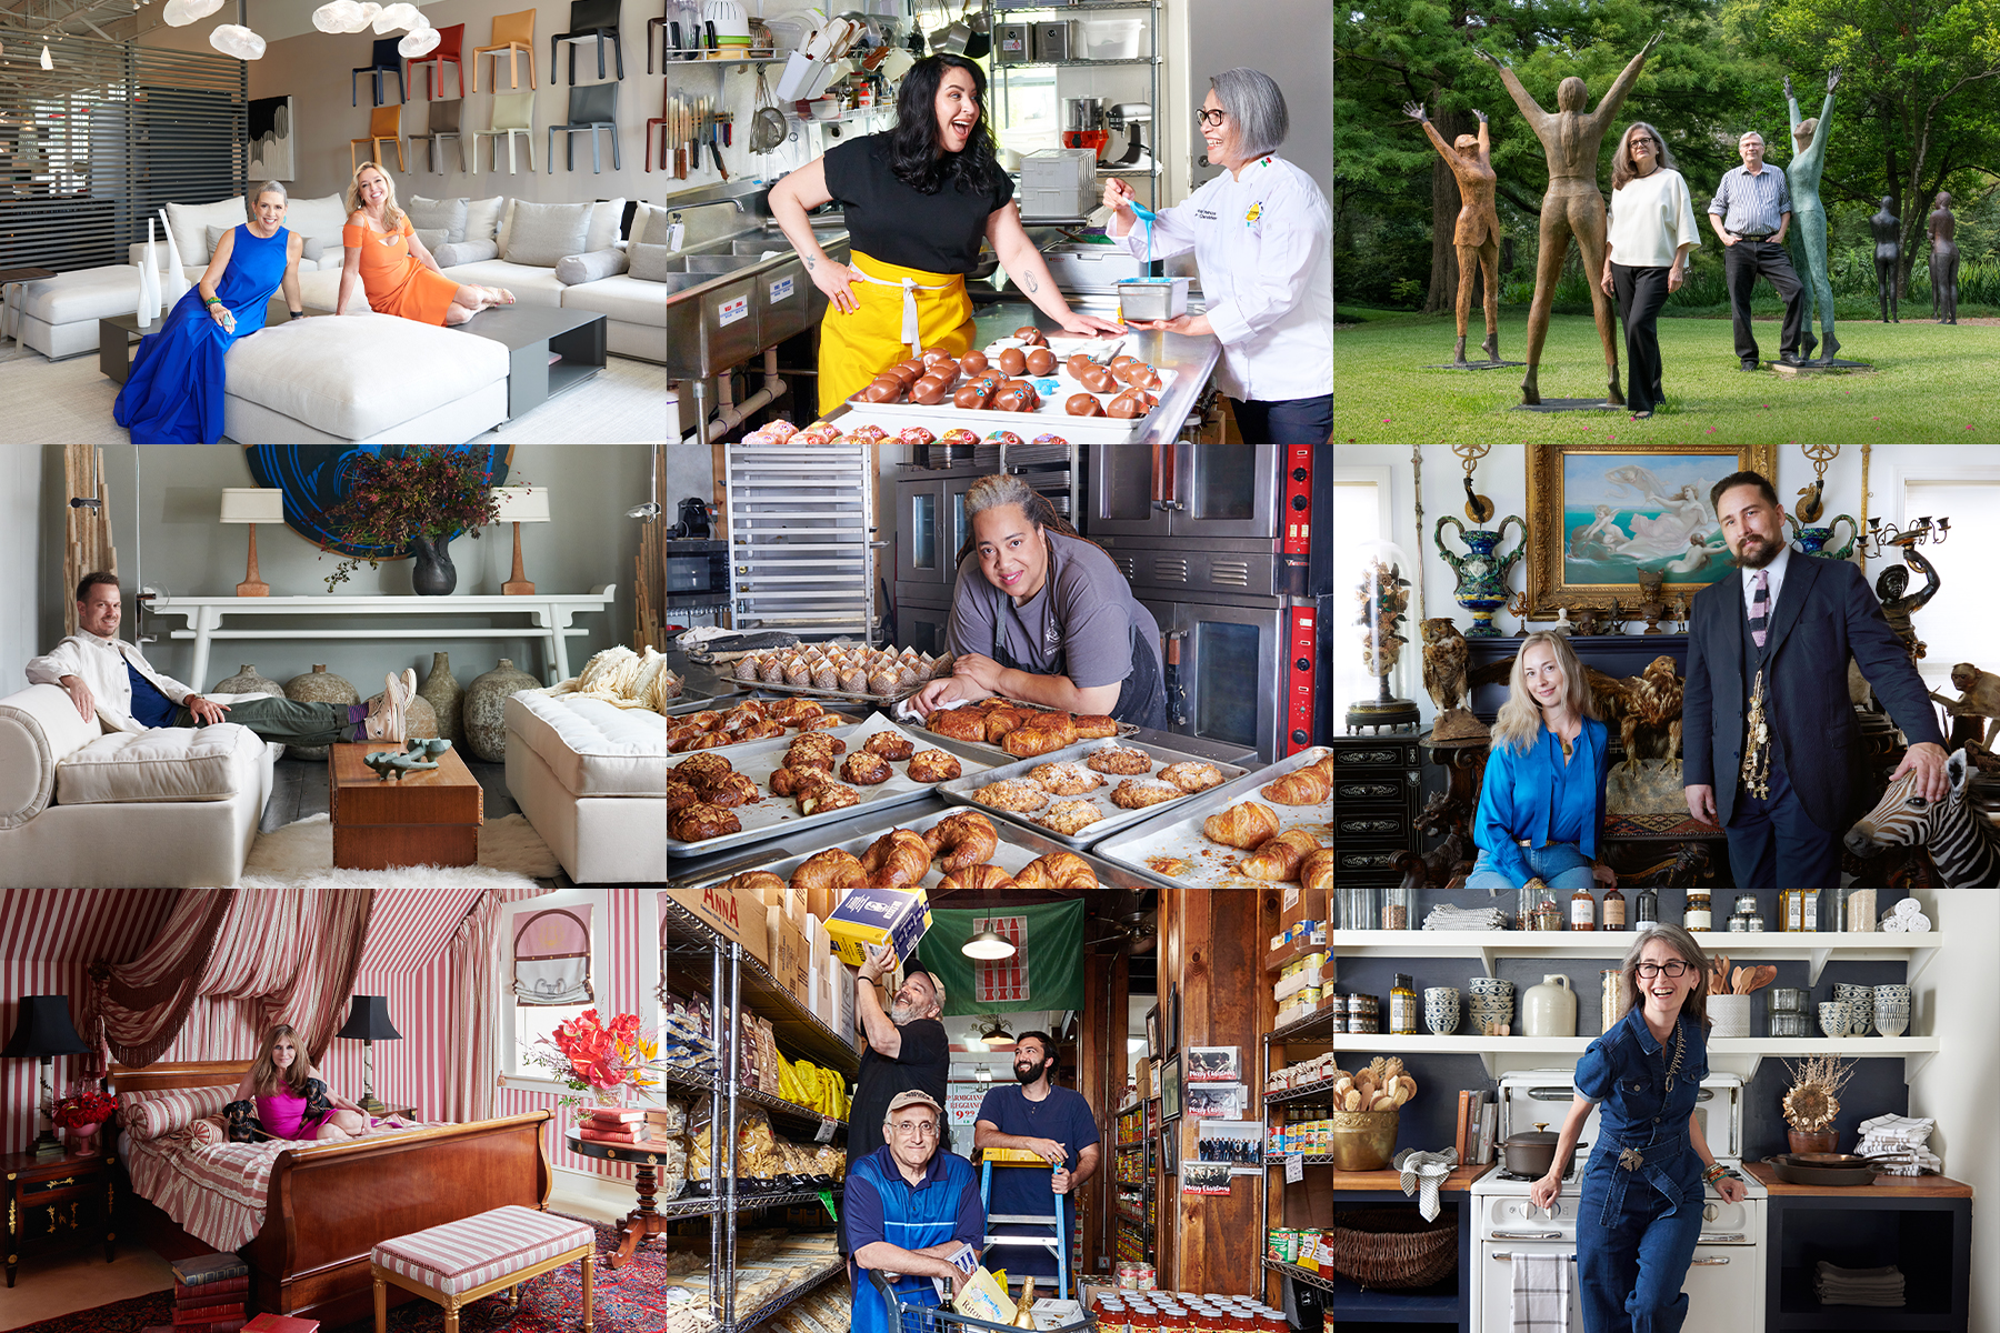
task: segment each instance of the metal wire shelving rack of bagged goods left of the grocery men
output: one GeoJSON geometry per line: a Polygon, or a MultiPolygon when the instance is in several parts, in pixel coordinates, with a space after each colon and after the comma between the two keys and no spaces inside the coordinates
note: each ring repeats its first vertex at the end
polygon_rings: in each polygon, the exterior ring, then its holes
{"type": "MultiPolygon", "coordinates": [[[[734,446],[730,446],[734,448],[734,446]]],[[[738,1111],[744,1105],[764,1107],[772,1117],[796,1125],[818,1127],[822,1119],[834,1127],[836,1135],[846,1133],[846,1121],[822,1117],[810,1107],[786,1101],[756,1087],[744,1087],[736,1055],[742,1051],[744,1005],[768,1017],[778,1043],[794,1055],[802,1055],[816,1065],[836,1069],[848,1083],[860,1073],[860,1055],[852,1043],[840,1039],[832,1027],[822,1023],[810,1009],[778,983],[778,979],[756,957],[744,951],[734,939],[722,939],[698,917],[678,903],[666,903],[668,955],[682,959],[684,971],[698,971],[706,963],[708,1003],[712,1013],[712,1035],[716,1037],[716,1077],[676,1075],[668,1081],[676,1087],[708,1091],[710,1123],[710,1193],[704,1197],[678,1199],[658,1205],[668,1217],[710,1217],[716,1223],[708,1229],[708,1271],[714,1281],[708,1285],[710,1317],[716,1321],[714,1333],[740,1333],[752,1329],[792,1301],[798,1301],[824,1281],[838,1277],[834,1267],[792,1287],[778,1297],[758,1305],[746,1315],[736,1313],[736,1215],[768,1207],[810,1205],[820,1201],[820,1191],[802,1189],[790,1193],[740,1193],[736,1189],[736,1127],[738,1111]],[[724,1003],[726,999],[726,1003],[724,1003]],[[720,1129],[720,1133],[718,1133],[720,1129]]],[[[834,1193],[840,1185],[834,1185],[834,1193]]]]}

